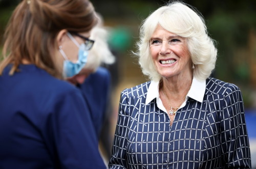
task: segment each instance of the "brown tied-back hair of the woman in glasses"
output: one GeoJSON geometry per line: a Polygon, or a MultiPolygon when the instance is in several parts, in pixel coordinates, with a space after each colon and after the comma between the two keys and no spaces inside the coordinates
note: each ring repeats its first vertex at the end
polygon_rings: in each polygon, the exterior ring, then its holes
{"type": "Polygon", "coordinates": [[[26,59],[55,77],[61,77],[54,63],[59,31],[88,32],[97,23],[88,0],[24,0],[14,10],[5,32],[4,60],[0,75],[8,64],[9,74],[18,71],[26,59]]]}

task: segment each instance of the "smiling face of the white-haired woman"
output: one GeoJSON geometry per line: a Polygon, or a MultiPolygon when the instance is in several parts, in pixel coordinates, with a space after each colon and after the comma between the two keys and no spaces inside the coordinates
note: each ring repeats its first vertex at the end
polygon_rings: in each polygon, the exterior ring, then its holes
{"type": "Polygon", "coordinates": [[[185,77],[192,72],[186,38],[170,33],[160,25],[151,36],[150,52],[162,77],[185,77]]]}

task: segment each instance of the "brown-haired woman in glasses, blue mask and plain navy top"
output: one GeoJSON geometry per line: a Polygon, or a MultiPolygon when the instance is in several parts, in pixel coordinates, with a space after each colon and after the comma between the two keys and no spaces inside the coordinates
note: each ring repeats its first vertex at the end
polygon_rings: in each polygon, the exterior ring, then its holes
{"type": "Polygon", "coordinates": [[[93,45],[88,0],[28,0],[13,12],[0,64],[0,168],[105,168],[77,74],[93,45]]]}

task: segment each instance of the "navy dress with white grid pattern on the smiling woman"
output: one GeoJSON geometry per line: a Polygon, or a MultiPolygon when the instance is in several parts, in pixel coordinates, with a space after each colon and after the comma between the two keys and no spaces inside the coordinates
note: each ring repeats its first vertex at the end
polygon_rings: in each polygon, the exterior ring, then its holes
{"type": "Polygon", "coordinates": [[[237,86],[206,79],[203,102],[188,98],[173,125],[145,82],[121,93],[110,168],[250,168],[244,106],[237,86]]]}

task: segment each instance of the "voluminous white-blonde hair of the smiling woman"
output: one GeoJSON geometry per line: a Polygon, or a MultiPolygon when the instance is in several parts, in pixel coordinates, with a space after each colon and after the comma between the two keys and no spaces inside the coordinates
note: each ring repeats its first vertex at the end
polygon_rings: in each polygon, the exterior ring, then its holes
{"type": "Polygon", "coordinates": [[[149,43],[158,24],[187,39],[190,57],[195,64],[194,76],[198,79],[209,77],[217,59],[215,41],[208,36],[202,15],[193,7],[179,1],[160,7],[142,22],[140,40],[137,43],[138,52],[135,54],[139,57],[143,74],[154,81],[161,79],[155,69],[149,43]]]}

